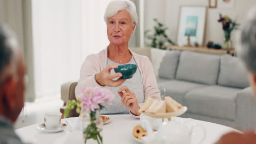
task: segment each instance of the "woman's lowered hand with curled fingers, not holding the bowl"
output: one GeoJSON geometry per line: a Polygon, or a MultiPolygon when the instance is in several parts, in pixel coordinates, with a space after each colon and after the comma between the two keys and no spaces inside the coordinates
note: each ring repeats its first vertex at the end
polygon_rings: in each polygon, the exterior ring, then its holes
{"type": "Polygon", "coordinates": [[[133,115],[141,115],[141,113],[138,112],[140,107],[135,93],[131,92],[130,89],[125,86],[118,90],[118,94],[122,98],[122,104],[126,105],[133,115]],[[123,93],[123,91],[125,91],[125,93],[123,93]]]}

